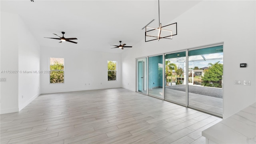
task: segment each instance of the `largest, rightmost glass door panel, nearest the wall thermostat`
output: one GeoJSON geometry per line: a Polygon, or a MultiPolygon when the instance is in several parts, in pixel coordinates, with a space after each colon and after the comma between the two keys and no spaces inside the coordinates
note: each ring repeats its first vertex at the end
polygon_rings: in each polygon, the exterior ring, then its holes
{"type": "Polygon", "coordinates": [[[223,46],[188,51],[188,106],[223,114],[223,46]]]}

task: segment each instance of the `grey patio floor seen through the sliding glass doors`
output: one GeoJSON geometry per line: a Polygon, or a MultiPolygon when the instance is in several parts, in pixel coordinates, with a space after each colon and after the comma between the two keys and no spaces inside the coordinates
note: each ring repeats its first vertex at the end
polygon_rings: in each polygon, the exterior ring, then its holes
{"type": "MultiPolygon", "coordinates": [[[[162,96],[162,88],[154,88],[154,95],[162,96]]],[[[165,100],[170,100],[180,104],[186,103],[185,85],[174,85],[165,87],[165,100]]],[[[223,89],[204,87],[204,86],[188,86],[188,105],[217,114],[223,114],[223,89]]]]}

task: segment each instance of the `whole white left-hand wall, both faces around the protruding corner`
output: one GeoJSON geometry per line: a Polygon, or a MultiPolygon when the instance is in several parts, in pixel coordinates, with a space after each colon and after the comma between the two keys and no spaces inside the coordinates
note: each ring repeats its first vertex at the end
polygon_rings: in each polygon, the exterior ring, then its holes
{"type": "Polygon", "coordinates": [[[40,94],[40,74],[23,74],[23,70],[40,70],[40,46],[15,14],[1,12],[1,114],[18,112],[40,94]],[[21,71],[21,72],[20,72],[21,71]],[[22,98],[23,95],[23,98],[22,98]]]}

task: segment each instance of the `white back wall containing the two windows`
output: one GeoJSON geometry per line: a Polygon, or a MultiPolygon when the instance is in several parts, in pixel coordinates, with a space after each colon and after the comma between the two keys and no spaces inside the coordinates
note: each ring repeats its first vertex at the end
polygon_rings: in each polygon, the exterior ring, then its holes
{"type": "Polygon", "coordinates": [[[64,58],[64,84],[50,84],[50,75],[41,74],[42,94],[120,88],[122,85],[121,54],[91,52],[72,47],[42,47],[41,70],[49,70],[49,58],[64,58]],[[108,81],[108,60],[117,61],[116,81],[108,81]]]}

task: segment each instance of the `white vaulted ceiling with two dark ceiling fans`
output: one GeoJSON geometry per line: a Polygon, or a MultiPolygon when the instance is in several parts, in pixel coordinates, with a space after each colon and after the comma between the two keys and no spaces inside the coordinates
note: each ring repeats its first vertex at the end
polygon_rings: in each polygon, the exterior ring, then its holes
{"type": "MultiPolygon", "coordinates": [[[[160,22],[170,24],[199,2],[160,0],[160,22]]],[[[1,11],[18,14],[41,46],[71,50],[125,52],[110,44],[122,40],[133,46],[144,40],[142,28],[151,20],[149,26],[158,27],[158,0],[1,0],[1,11]],[[62,31],[66,38],[78,38],[78,44],[44,38],[58,38],[53,33],[62,36],[62,31]]]]}

